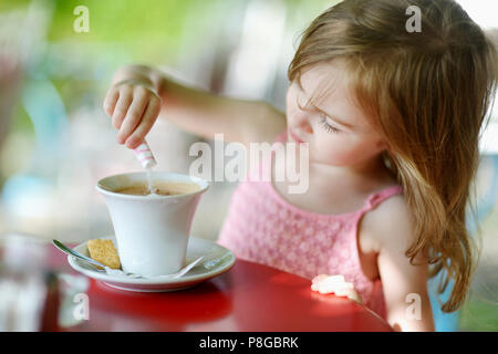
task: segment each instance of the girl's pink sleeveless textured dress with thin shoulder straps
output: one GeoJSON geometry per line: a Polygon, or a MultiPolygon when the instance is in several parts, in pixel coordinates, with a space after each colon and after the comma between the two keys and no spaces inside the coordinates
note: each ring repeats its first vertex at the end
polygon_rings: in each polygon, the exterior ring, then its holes
{"type": "MultiPolygon", "coordinates": [[[[281,134],[277,140],[286,137],[281,134]]],[[[259,168],[270,168],[271,176],[271,160],[263,160],[259,168]]],[[[271,181],[260,176],[260,170],[249,170],[246,181],[234,191],[218,243],[240,259],[310,280],[318,274],[342,274],[354,284],[363,303],[385,320],[381,280],[370,280],[361,268],[357,229],[367,211],[402,194],[402,187],[392,186],[370,195],[360,210],[323,215],[289,204],[271,181]]]]}

